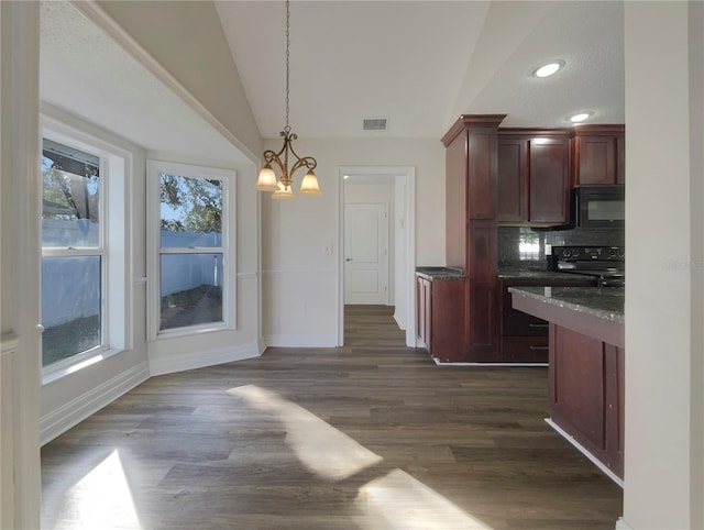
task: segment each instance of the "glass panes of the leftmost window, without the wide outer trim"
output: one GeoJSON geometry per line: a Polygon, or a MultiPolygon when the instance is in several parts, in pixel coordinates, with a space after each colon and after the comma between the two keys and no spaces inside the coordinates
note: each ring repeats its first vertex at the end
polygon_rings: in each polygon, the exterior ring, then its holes
{"type": "Polygon", "coordinates": [[[102,344],[100,159],[44,139],[42,365],[102,344]]]}

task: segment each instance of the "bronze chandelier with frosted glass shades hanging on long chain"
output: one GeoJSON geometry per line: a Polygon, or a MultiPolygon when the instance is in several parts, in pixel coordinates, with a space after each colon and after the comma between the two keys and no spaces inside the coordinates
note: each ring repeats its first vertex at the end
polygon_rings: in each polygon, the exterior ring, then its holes
{"type": "Polygon", "coordinates": [[[290,47],[290,9],[289,0],[286,0],[286,126],[279,133],[284,139],[284,146],[278,153],[274,153],[271,150],[264,152],[264,167],[260,172],[260,176],[256,179],[254,189],[260,191],[274,191],[272,198],[274,199],[293,199],[294,192],[292,185],[294,183],[294,173],[301,167],[306,167],[308,172],[304,176],[300,183],[300,195],[321,195],[320,187],[318,186],[318,178],[314,173],[314,169],[318,165],[312,156],[304,156],[302,158],[294,151],[293,141],[298,136],[292,132],[292,128],[288,124],[288,79],[290,76],[290,68],[288,64],[289,47],[290,47]],[[293,155],[293,156],[292,156],[293,155]],[[290,168],[288,163],[292,163],[290,168]],[[276,179],[276,173],[272,165],[278,168],[280,177],[276,179]]]}

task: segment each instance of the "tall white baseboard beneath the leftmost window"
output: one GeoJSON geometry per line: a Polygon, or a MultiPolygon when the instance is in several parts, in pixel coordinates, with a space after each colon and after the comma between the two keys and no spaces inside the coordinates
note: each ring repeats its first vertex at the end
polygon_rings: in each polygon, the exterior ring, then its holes
{"type": "Polygon", "coordinates": [[[72,399],[40,419],[40,443],[51,442],[150,378],[146,361],[72,399]]]}

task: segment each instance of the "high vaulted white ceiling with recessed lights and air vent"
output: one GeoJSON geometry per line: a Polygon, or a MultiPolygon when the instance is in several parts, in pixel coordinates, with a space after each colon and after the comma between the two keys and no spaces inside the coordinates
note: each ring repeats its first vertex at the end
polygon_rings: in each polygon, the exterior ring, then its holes
{"type": "MultiPolygon", "coordinates": [[[[284,125],[285,3],[216,7],[264,137],[284,125]]],[[[502,126],[624,122],[617,1],[304,1],[290,5],[290,125],[301,137],[440,137],[462,113],[502,126]],[[558,75],[531,75],[562,59],[558,75]],[[364,119],[387,131],[363,131],[364,119]]]]}

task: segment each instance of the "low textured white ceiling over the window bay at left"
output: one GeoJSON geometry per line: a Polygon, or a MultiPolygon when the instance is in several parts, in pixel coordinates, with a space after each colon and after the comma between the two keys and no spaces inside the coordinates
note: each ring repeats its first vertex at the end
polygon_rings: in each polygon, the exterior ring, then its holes
{"type": "Polygon", "coordinates": [[[41,4],[40,98],[146,150],[246,156],[70,2],[41,4]]]}

